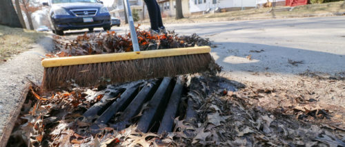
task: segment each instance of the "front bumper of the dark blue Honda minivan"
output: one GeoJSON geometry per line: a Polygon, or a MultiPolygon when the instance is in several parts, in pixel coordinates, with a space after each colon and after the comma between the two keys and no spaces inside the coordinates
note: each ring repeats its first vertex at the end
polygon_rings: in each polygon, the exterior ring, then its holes
{"type": "Polygon", "coordinates": [[[110,26],[110,15],[109,14],[97,14],[92,17],[93,22],[84,23],[83,17],[79,16],[54,16],[52,23],[54,23],[56,30],[79,30],[90,27],[106,27],[110,26]]]}

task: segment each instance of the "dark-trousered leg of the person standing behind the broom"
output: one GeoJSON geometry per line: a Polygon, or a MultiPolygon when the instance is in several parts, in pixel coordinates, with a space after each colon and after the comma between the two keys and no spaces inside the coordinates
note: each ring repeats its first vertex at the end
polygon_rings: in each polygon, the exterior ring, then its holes
{"type": "Polygon", "coordinates": [[[148,8],[148,16],[150,17],[151,29],[158,31],[158,22],[157,17],[158,13],[156,8],[156,0],[144,0],[146,3],[146,7],[148,8]]]}

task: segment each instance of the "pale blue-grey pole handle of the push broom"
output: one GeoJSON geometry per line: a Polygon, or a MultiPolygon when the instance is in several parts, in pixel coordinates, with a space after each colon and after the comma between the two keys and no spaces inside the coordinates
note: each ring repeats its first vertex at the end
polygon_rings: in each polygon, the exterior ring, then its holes
{"type": "Polygon", "coordinates": [[[127,13],[128,25],[130,26],[130,37],[132,38],[133,51],[139,52],[139,43],[137,38],[137,32],[135,31],[132,12],[130,11],[130,5],[128,0],[124,0],[124,6],[127,13]]]}

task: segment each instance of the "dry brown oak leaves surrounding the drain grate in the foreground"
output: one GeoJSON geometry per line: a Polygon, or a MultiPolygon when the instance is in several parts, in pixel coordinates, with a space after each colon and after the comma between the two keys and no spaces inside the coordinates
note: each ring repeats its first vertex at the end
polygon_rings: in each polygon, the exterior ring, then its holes
{"type": "Polygon", "coordinates": [[[30,111],[21,115],[9,144],[26,137],[25,144],[34,146],[345,146],[342,117],[308,95],[244,87],[218,77],[196,76],[192,81],[198,90],[189,91],[188,98],[195,102],[198,119],[176,118],[174,132],[162,135],[140,133],[135,124],[92,134],[81,114],[101,100],[99,90],[75,88],[45,98],[33,90],[34,106],[23,106],[30,111]]]}

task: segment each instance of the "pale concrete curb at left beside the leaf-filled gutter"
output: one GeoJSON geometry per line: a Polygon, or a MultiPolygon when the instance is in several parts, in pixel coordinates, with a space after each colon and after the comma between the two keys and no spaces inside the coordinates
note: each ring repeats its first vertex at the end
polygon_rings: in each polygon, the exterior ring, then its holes
{"type": "Polygon", "coordinates": [[[0,146],[6,146],[8,142],[28,93],[28,80],[41,82],[40,56],[52,50],[52,38],[45,36],[32,47],[0,65],[0,146]]]}

